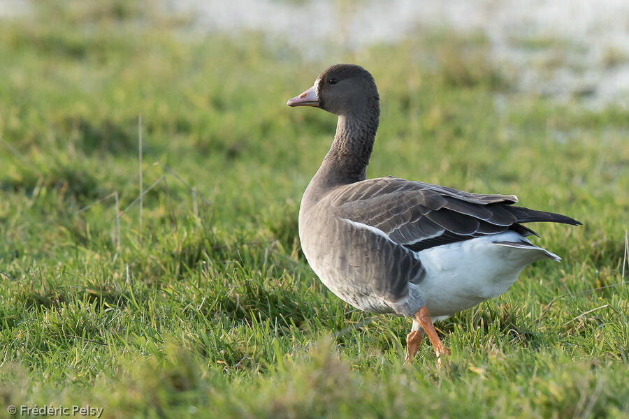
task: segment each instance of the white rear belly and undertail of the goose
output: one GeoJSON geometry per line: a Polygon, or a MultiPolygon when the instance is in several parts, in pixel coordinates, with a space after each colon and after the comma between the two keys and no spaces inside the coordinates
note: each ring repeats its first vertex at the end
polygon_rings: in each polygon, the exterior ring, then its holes
{"type": "Polygon", "coordinates": [[[426,268],[426,277],[410,286],[419,288],[433,317],[473,307],[507,291],[529,263],[554,256],[539,247],[519,249],[494,244],[521,240],[526,239],[507,232],[420,251],[417,255],[426,268]]]}

